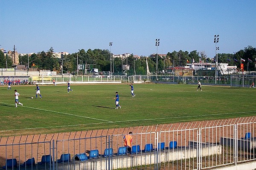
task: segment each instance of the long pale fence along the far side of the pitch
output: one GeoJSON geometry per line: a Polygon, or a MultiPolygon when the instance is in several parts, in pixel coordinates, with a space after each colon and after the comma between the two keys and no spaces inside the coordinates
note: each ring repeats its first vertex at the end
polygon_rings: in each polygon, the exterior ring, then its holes
{"type": "Polygon", "coordinates": [[[75,83],[113,83],[113,82],[160,82],[175,84],[196,84],[200,80],[202,85],[225,85],[230,87],[250,87],[256,81],[256,75],[227,75],[217,77],[207,76],[173,76],[173,75],[72,75],[72,74],[41,74],[39,76],[0,76],[0,82],[4,80],[23,79],[29,82],[52,84],[53,79],[58,84],[67,81],[75,83]]]}

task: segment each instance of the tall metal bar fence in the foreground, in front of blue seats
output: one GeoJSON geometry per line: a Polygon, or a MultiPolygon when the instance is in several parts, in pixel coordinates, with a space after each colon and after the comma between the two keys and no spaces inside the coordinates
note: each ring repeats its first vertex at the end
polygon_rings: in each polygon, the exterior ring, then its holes
{"type": "Polygon", "coordinates": [[[19,170],[200,170],[255,161],[256,117],[0,138],[19,170]],[[132,132],[128,152],[123,136],[132,132]]]}

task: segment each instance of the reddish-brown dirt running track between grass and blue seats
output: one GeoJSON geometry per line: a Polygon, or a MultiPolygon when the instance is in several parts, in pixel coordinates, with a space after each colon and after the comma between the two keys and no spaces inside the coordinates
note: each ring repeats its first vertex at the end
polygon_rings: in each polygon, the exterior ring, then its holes
{"type": "Polygon", "coordinates": [[[114,153],[117,153],[118,147],[124,146],[122,137],[130,131],[133,133],[133,145],[139,144],[141,149],[144,149],[145,144],[148,143],[152,143],[156,148],[157,142],[165,142],[166,146],[169,141],[177,141],[178,146],[188,145],[189,141],[197,141],[199,128],[202,128],[202,142],[218,143],[220,136],[233,137],[234,124],[238,124],[238,137],[243,137],[248,131],[256,131],[256,127],[251,123],[255,122],[255,119],[256,116],[251,116],[204,122],[0,137],[0,166],[5,164],[6,157],[16,158],[20,164],[31,157],[35,158],[36,163],[40,162],[43,155],[48,155],[50,152],[52,154],[50,148],[53,143],[55,160],[59,159],[62,153],[70,153],[73,157],[75,154],[85,152],[88,156],[90,150],[98,149],[99,153],[103,154],[105,148],[108,148],[108,136],[111,138],[114,153]]]}

